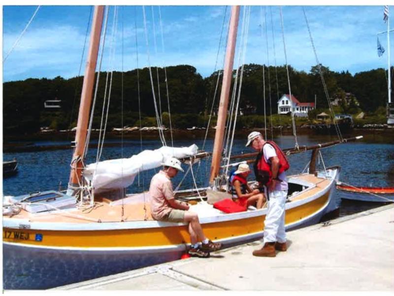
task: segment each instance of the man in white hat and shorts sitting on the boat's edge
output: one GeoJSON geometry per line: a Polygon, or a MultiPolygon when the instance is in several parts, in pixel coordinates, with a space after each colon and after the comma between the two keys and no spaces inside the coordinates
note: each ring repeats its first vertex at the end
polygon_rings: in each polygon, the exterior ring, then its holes
{"type": "Polygon", "coordinates": [[[195,257],[207,258],[209,252],[222,248],[221,243],[213,243],[205,237],[196,213],[190,212],[186,202],[174,198],[170,178],[182,171],[181,162],[171,157],[164,162],[164,170],[153,176],[149,188],[151,196],[152,217],[158,221],[189,223],[189,234],[192,243],[189,254],[195,257]],[[198,241],[198,238],[200,241],[198,241]]]}

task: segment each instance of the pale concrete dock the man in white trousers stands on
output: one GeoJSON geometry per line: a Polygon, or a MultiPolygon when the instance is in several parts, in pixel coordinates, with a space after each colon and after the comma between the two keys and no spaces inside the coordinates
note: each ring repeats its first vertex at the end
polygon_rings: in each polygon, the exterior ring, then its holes
{"type": "Polygon", "coordinates": [[[394,291],[394,204],[287,232],[287,252],[255,241],[51,290],[394,291]]]}

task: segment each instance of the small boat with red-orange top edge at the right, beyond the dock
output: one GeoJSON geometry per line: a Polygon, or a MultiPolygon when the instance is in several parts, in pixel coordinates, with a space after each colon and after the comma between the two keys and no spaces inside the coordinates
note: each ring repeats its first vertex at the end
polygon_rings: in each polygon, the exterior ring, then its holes
{"type": "Polygon", "coordinates": [[[374,202],[394,201],[394,187],[359,187],[338,184],[336,189],[340,190],[341,198],[344,199],[374,202]]]}

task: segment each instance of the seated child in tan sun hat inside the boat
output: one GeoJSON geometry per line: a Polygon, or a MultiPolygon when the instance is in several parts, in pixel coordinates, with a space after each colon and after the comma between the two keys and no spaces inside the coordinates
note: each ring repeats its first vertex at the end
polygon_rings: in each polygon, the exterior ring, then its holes
{"type": "Polygon", "coordinates": [[[252,190],[248,185],[246,178],[249,173],[249,166],[246,163],[241,163],[238,170],[230,177],[232,199],[240,206],[245,207],[245,211],[250,205],[256,205],[257,209],[261,209],[265,202],[264,194],[260,193],[259,189],[252,190]]]}

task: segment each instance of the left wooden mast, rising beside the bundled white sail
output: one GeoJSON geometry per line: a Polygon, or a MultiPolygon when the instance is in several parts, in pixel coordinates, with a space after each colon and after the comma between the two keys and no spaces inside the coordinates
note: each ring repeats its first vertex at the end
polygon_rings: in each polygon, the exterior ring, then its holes
{"type": "Polygon", "coordinates": [[[75,133],[75,149],[72,155],[70,179],[67,189],[67,194],[69,195],[75,195],[78,190],[79,183],[81,183],[81,173],[83,169],[82,158],[86,143],[89,112],[92,103],[93,84],[96,72],[97,56],[99,53],[103,15],[104,6],[96,5],[93,15],[92,31],[90,34],[88,60],[83,79],[81,102],[79,105],[78,123],[75,133]]]}

